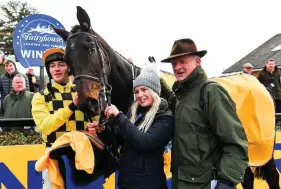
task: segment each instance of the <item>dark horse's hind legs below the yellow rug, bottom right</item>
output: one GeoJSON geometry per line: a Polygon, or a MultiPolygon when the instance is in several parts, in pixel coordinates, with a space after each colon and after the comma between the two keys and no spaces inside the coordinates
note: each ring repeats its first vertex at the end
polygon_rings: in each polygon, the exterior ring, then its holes
{"type": "MultiPolygon", "coordinates": [[[[270,189],[280,189],[279,186],[279,173],[276,169],[275,161],[273,158],[269,160],[264,166],[261,167],[265,180],[270,189]]],[[[244,182],[242,186],[244,189],[254,189],[254,173],[248,167],[245,172],[244,182]]]]}

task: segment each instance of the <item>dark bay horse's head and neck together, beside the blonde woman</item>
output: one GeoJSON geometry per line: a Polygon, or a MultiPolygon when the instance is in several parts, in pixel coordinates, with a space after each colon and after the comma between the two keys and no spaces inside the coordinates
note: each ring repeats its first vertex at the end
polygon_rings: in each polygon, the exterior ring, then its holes
{"type": "MultiPolygon", "coordinates": [[[[88,14],[79,6],[77,19],[79,25],[70,32],[55,27],[54,30],[66,41],[65,60],[74,72],[79,108],[95,116],[111,100],[121,111],[127,112],[133,101],[133,80],[141,69],[114,51],[91,28],[88,14]],[[108,95],[111,88],[111,95],[108,95]]],[[[171,90],[163,80],[161,86],[161,96],[169,98],[171,90]]]]}

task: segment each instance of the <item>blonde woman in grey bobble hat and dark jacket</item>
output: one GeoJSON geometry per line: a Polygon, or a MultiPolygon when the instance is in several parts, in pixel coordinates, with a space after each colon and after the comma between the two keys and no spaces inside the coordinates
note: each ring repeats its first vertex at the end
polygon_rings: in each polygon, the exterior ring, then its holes
{"type": "MultiPolygon", "coordinates": [[[[166,189],[163,153],[172,137],[174,123],[166,100],[160,98],[160,79],[156,67],[144,68],[133,84],[136,101],[128,117],[111,105],[105,116],[123,135],[118,176],[120,189],[166,189]]],[[[89,123],[89,132],[98,131],[89,123]]],[[[118,141],[119,143],[120,141],[118,141]]]]}

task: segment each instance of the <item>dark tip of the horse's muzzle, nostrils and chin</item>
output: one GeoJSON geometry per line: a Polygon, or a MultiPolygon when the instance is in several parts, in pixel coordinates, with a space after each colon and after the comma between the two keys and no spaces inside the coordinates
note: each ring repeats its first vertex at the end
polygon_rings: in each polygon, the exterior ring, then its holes
{"type": "Polygon", "coordinates": [[[88,97],[85,100],[79,101],[78,109],[81,110],[84,114],[90,117],[101,114],[101,110],[98,105],[98,101],[94,98],[88,97]]]}

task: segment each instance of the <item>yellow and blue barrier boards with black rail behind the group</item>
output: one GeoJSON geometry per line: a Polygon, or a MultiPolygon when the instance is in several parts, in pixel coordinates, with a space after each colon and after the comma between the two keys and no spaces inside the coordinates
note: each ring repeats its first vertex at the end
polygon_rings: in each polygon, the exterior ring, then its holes
{"type": "MultiPolygon", "coordinates": [[[[281,114],[276,115],[281,120],[281,114]]],[[[0,119],[1,127],[35,126],[33,119],[0,119]]],[[[167,149],[169,151],[169,149],[167,149]]],[[[166,151],[166,152],[168,152],[166,151]]],[[[35,171],[36,161],[45,153],[44,145],[15,145],[0,146],[0,189],[40,189],[42,188],[42,174],[35,171]]],[[[276,132],[274,158],[279,172],[281,172],[281,132],[276,132]]],[[[171,174],[167,171],[167,182],[171,188],[171,174]]],[[[105,189],[118,189],[117,174],[112,174],[104,184],[105,189]]],[[[281,182],[280,182],[281,184],[281,182]]],[[[255,180],[255,189],[267,189],[263,180],[255,180]]],[[[238,189],[242,189],[238,185],[238,189]]]]}

